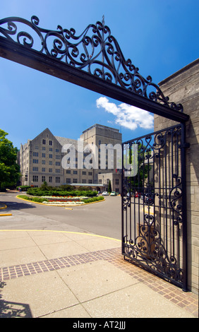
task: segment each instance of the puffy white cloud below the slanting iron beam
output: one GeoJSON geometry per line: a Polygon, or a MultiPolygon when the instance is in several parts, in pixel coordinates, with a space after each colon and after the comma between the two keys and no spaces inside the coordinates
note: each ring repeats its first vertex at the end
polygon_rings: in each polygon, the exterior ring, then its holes
{"type": "Polygon", "coordinates": [[[115,123],[125,128],[135,130],[138,127],[143,129],[153,128],[153,115],[144,109],[138,107],[120,104],[116,105],[114,102],[109,102],[107,97],[100,97],[96,100],[97,108],[104,108],[106,112],[114,114],[115,123]]]}

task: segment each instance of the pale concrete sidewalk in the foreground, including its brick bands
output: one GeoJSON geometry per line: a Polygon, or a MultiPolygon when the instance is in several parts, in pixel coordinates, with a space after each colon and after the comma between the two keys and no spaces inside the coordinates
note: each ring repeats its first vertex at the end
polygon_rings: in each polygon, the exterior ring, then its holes
{"type": "Polygon", "coordinates": [[[195,318],[198,297],[124,261],[117,239],[0,230],[0,317],[195,318]]]}

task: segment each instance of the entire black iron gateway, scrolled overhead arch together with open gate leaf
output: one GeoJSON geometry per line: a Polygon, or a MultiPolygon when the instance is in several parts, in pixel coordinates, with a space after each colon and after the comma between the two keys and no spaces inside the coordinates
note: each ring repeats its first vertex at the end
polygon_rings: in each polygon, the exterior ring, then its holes
{"type": "Polygon", "coordinates": [[[182,105],[164,96],[150,76],[141,76],[131,60],[123,57],[104,20],[88,25],[79,36],[74,29],[59,25],[57,30],[47,30],[40,28],[39,23],[36,16],[30,21],[16,17],[1,19],[0,56],[179,123],[175,129],[123,143],[123,156],[126,146],[131,153],[133,144],[138,144],[138,177],[128,174],[132,162],[125,167],[123,160],[122,253],[186,290],[185,123],[188,115],[183,113],[182,105]],[[169,173],[168,162],[174,167],[169,173]],[[151,183],[150,167],[153,169],[151,183]],[[132,196],[138,201],[133,201],[132,196]],[[174,247],[177,256],[171,250],[174,247]]]}

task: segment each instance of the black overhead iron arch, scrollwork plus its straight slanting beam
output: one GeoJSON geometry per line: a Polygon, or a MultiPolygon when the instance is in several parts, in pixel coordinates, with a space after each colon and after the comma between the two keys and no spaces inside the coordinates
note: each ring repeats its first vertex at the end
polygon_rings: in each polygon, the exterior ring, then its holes
{"type": "Polygon", "coordinates": [[[73,28],[47,30],[39,23],[37,16],[1,19],[0,56],[163,117],[188,120],[181,104],[170,102],[151,76],[144,78],[124,58],[104,17],[80,35],[73,28]]]}

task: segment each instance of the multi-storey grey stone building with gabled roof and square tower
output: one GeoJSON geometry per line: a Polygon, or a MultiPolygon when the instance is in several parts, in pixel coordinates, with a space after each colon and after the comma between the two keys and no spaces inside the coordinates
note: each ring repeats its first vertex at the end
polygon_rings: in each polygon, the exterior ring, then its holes
{"type": "Polygon", "coordinates": [[[114,167],[108,168],[107,151],[102,169],[102,144],[121,146],[119,130],[95,124],[83,131],[79,140],[73,140],[54,136],[49,129],[45,129],[37,137],[20,146],[21,184],[41,186],[45,181],[50,186],[90,186],[102,192],[107,189],[109,178],[112,190],[121,192],[121,173],[115,168],[116,151],[110,149],[114,167]],[[98,179],[98,175],[102,173],[105,177],[98,179]]]}

